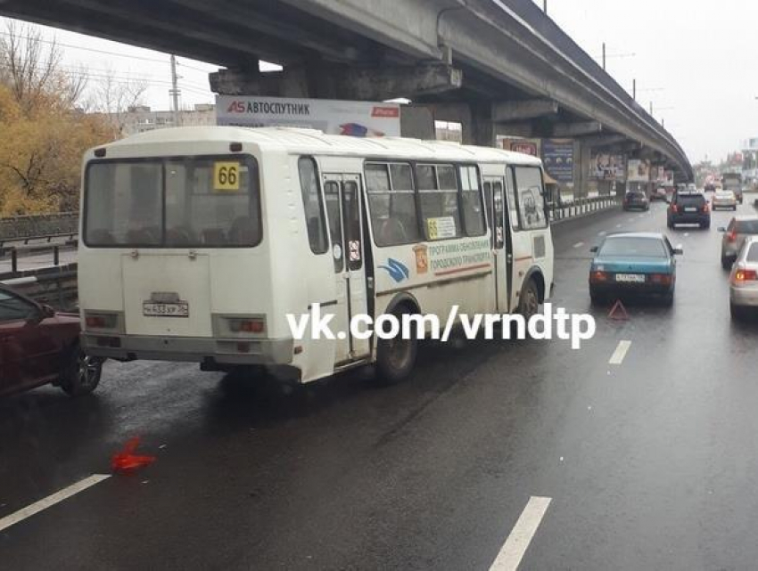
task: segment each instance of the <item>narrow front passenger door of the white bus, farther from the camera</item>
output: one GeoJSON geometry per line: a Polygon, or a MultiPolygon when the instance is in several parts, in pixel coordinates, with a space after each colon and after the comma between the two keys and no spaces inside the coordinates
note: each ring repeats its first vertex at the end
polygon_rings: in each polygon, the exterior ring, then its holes
{"type": "Polygon", "coordinates": [[[495,303],[498,312],[508,311],[508,300],[513,282],[513,256],[510,248],[509,228],[505,213],[503,177],[484,179],[484,199],[490,219],[492,251],[495,257],[495,303]]]}

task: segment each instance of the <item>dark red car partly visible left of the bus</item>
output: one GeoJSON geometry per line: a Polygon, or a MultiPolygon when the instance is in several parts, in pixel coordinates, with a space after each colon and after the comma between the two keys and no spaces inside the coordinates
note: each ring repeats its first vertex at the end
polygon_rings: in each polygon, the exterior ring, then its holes
{"type": "Polygon", "coordinates": [[[0,396],[46,384],[87,395],[100,382],[102,366],[79,348],[77,314],[55,312],[0,286],[0,396]]]}

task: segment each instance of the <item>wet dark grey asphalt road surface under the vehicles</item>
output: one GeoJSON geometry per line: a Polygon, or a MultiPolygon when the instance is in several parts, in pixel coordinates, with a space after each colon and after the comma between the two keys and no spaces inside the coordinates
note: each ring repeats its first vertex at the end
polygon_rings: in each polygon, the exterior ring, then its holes
{"type": "Polygon", "coordinates": [[[664,205],[557,225],[553,302],[597,317],[580,351],[425,347],[403,385],[352,373],[295,395],[108,363],[94,396],[6,398],[0,518],[109,473],[131,436],[157,461],[0,532],[0,567],[488,569],[544,496],[522,569],[754,568],[758,322],[729,319],[730,216],[668,232],[685,249],[674,306],[631,304],[629,322],[589,306],[589,246],[665,231],[664,205]]]}

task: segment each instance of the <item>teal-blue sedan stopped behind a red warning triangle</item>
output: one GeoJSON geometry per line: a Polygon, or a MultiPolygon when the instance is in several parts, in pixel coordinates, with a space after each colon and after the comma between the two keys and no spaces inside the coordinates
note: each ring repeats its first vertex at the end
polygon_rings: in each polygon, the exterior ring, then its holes
{"type": "Polygon", "coordinates": [[[589,297],[592,303],[627,295],[674,300],[676,259],[681,247],[672,248],[663,234],[625,232],[606,236],[589,266],[589,297]]]}

